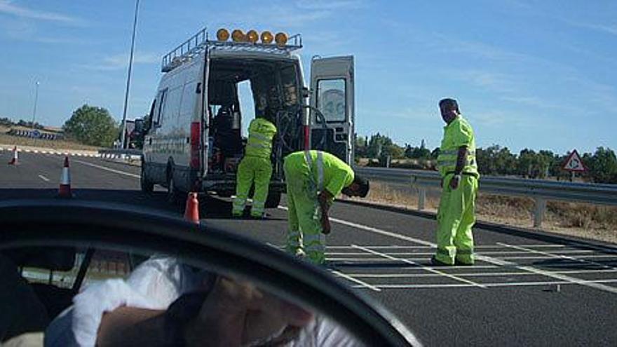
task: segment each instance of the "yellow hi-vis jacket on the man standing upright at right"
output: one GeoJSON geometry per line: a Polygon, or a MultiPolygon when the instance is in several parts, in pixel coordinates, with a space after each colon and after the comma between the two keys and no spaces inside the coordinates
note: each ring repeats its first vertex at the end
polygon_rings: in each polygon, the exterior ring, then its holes
{"type": "Polygon", "coordinates": [[[441,142],[437,167],[442,177],[456,170],[456,158],[459,147],[467,147],[467,158],[463,172],[478,175],[475,160],[475,136],[471,125],[459,114],[452,123],[444,127],[444,137],[441,142]]]}

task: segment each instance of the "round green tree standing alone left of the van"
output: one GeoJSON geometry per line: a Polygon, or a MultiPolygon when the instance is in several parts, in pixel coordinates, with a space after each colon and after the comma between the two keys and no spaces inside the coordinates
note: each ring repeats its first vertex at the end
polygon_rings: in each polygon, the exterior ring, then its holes
{"type": "Polygon", "coordinates": [[[88,104],[73,111],[62,128],[68,137],[92,146],[109,147],[118,137],[118,124],[109,111],[88,104]]]}

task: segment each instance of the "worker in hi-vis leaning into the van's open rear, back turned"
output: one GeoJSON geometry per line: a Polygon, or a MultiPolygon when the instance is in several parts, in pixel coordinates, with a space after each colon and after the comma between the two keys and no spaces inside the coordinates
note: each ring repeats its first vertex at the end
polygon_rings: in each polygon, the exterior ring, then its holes
{"type": "Polygon", "coordinates": [[[238,165],[236,175],[236,198],[233,199],[233,217],[240,217],[244,211],[248,192],[255,182],[255,193],[251,207],[251,217],[264,217],[266,198],[272,175],[272,139],[276,135],[276,126],[269,117],[271,112],[264,110],[263,116],[253,119],[248,128],[248,141],[244,157],[238,165]]]}

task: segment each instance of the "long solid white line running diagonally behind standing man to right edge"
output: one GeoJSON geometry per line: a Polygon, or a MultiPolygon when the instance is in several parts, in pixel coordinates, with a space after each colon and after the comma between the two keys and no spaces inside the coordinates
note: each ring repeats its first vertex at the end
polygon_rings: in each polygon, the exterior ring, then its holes
{"type": "MultiPolygon", "coordinates": [[[[280,208],[282,210],[287,210],[287,207],[284,207],[284,206],[279,206],[278,208],[280,208]]],[[[339,224],[344,224],[346,226],[352,226],[353,228],[356,228],[356,229],[365,230],[365,231],[369,231],[369,232],[372,232],[372,233],[377,233],[379,235],[390,236],[392,238],[398,238],[399,240],[405,240],[405,241],[408,241],[408,242],[417,243],[419,245],[425,245],[425,246],[430,246],[430,247],[437,247],[437,245],[435,243],[431,243],[431,242],[428,242],[428,241],[425,241],[425,240],[420,240],[418,238],[412,238],[412,237],[409,237],[409,236],[400,235],[398,233],[393,233],[391,231],[385,231],[385,230],[373,228],[371,226],[365,226],[365,225],[362,225],[362,224],[348,222],[348,221],[345,221],[343,219],[330,218],[330,221],[337,222],[339,224]]],[[[496,258],[488,257],[488,256],[485,256],[485,255],[477,255],[476,259],[477,260],[486,261],[489,264],[493,264],[493,265],[497,265],[497,266],[511,266],[511,267],[514,267],[514,268],[518,268],[519,270],[529,271],[529,272],[532,272],[532,273],[537,273],[538,275],[545,275],[546,277],[555,278],[557,280],[563,280],[563,281],[566,281],[566,282],[569,282],[569,283],[575,283],[575,284],[578,284],[578,285],[584,285],[586,287],[592,287],[592,288],[595,288],[597,290],[603,290],[604,292],[611,292],[613,294],[617,294],[617,287],[610,287],[608,285],[603,285],[602,283],[594,283],[594,282],[589,282],[589,281],[581,280],[581,279],[578,279],[578,278],[570,277],[568,275],[562,275],[562,274],[559,274],[559,273],[552,273],[550,271],[545,271],[545,270],[541,270],[539,268],[534,268],[533,266],[521,266],[521,265],[515,264],[515,263],[513,263],[511,261],[496,259],[496,258]]]]}

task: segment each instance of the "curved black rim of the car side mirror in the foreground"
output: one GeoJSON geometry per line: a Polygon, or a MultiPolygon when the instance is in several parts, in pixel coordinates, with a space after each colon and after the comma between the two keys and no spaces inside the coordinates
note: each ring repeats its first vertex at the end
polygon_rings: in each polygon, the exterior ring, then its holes
{"type": "Polygon", "coordinates": [[[0,223],[0,252],[87,247],[172,254],[185,264],[250,280],[280,298],[314,309],[366,346],[420,344],[383,306],[322,269],[207,222],[190,224],[130,205],[7,200],[0,202],[0,223]]]}

